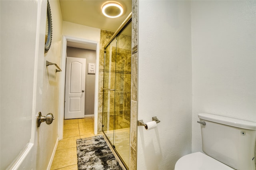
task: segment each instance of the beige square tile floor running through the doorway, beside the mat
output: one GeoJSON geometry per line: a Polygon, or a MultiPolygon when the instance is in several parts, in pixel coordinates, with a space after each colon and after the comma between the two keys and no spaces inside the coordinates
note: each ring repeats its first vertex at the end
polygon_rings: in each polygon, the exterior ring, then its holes
{"type": "Polygon", "coordinates": [[[51,170],[77,170],[76,139],[95,136],[94,117],[64,120],[63,140],[58,142],[51,170]]]}

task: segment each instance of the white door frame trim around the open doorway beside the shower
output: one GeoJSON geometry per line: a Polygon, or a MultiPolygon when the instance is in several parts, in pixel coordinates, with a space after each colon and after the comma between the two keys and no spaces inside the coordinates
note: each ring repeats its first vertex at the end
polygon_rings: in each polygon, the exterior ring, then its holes
{"type": "Polygon", "coordinates": [[[99,81],[99,60],[100,60],[100,42],[76,38],[72,36],[62,37],[62,51],[60,58],[60,93],[59,93],[59,140],[63,139],[64,108],[65,108],[65,77],[66,77],[66,51],[67,42],[86,43],[96,45],[96,73],[95,73],[95,90],[94,90],[94,134],[98,132],[98,81],[99,81]]]}

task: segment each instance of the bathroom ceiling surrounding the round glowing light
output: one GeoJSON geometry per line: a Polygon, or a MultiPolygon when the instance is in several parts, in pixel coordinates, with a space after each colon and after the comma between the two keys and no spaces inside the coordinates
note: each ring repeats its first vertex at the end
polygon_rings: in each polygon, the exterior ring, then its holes
{"type": "Polygon", "coordinates": [[[118,18],[108,18],[102,14],[101,9],[106,2],[110,1],[60,0],[62,20],[115,32],[132,12],[132,0],[115,0],[124,8],[124,14],[118,18]]]}

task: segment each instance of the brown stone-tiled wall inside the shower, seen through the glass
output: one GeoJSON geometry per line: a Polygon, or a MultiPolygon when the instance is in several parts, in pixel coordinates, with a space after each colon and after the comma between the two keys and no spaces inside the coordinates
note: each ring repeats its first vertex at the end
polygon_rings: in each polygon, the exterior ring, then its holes
{"type": "MultiPolygon", "coordinates": [[[[110,115],[108,130],[130,128],[131,109],[131,36],[119,35],[117,41],[113,40],[112,45],[106,49],[106,68],[104,84],[105,88],[116,89],[115,91],[104,91],[104,100],[112,104],[103,106],[104,115],[110,115]],[[117,47],[116,47],[117,46],[117,47]],[[115,123],[114,123],[115,119],[115,123]]],[[[106,129],[104,129],[106,130],[106,129]]]]}

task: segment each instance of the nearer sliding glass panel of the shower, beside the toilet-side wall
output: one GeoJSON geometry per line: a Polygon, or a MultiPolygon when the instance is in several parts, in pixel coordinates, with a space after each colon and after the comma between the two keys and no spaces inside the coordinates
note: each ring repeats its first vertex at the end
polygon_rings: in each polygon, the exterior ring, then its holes
{"type": "MultiPolygon", "coordinates": [[[[130,29],[131,30],[131,29],[130,29]]],[[[116,41],[116,94],[114,146],[129,165],[131,107],[131,36],[120,34],[116,41]]]]}

